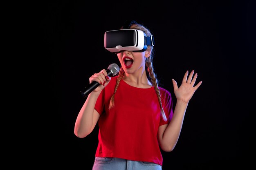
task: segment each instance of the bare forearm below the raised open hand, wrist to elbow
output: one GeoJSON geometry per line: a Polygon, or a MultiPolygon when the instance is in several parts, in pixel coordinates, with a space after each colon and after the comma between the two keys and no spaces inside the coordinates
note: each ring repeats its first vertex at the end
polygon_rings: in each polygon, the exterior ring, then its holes
{"type": "Polygon", "coordinates": [[[165,150],[167,151],[172,151],[177,144],[177,141],[180,137],[180,132],[182,129],[187,106],[188,103],[177,100],[173,112],[173,118],[168,124],[166,130],[164,131],[162,139],[162,148],[166,148],[165,150]]]}

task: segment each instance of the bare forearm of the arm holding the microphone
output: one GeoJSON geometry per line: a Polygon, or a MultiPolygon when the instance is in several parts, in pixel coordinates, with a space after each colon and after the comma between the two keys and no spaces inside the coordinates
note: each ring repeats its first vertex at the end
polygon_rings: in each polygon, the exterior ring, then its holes
{"type": "Polygon", "coordinates": [[[92,132],[94,126],[94,106],[99,94],[99,92],[90,93],[79,111],[74,127],[74,134],[77,137],[83,138],[92,132]]]}

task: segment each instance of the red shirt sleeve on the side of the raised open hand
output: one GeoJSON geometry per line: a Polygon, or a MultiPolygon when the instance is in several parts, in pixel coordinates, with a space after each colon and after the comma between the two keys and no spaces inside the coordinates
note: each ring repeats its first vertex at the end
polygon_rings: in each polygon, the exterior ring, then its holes
{"type": "Polygon", "coordinates": [[[162,99],[162,106],[164,109],[164,113],[167,117],[167,121],[164,121],[163,117],[161,116],[159,126],[164,124],[169,124],[171,119],[173,118],[173,101],[171,97],[171,93],[161,89],[161,99],[162,99]]]}

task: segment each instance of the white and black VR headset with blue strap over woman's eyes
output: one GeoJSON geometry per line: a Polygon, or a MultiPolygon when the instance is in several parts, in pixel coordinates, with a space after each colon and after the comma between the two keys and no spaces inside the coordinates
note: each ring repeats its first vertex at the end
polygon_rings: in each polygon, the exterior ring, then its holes
{"type": "Polygon", "coordinates": [[[105,49],[112,53],[119,51],[144,52],[148,45],[155,45],[153,35],[147,36],[143,31],[137,29],[107,31],[104,35],[105,49]]]}

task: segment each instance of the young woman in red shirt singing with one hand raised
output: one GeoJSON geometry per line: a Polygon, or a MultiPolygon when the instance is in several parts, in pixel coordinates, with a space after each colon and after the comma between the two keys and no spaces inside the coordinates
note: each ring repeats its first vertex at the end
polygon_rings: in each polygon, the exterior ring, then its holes
{"type": "MultiPolygon", "coordinates": [[[[128,29],[150,31],[133,22],[128,29]]],[[[202,84],[194,86],[197,73],[186,71],[182,84],[173,79],[175,108],[171,94],[157,84],[153,69],[153,45],[145,51],[117,52],[121,64],[118,75],[105,69],[90,77],[99,82],[83,104],[74,127],[79,138],[99,125],[99,144],[93,170],[161,170],[163,151],[177,144],[189,100],[202,84]],[[159,148],[160,147],[160,148],[159,148]]]]}

